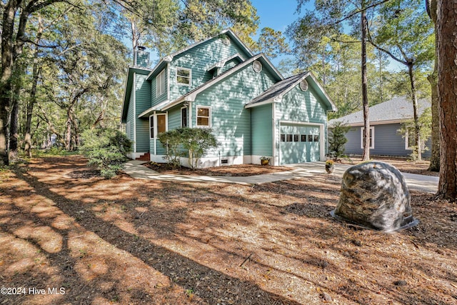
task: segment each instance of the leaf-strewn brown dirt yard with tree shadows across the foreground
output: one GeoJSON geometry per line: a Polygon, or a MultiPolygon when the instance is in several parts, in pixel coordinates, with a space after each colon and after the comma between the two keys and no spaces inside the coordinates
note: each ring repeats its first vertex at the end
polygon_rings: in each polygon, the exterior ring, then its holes
{"type": "Polygon", "coordinates": [[[457,204],[338,222],[341,179],[261,186],[96,176],[79,156],[0,172],[0,304],[457,304],[457,204]]]}

